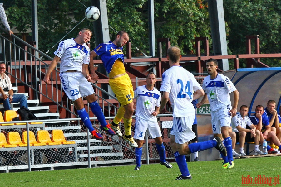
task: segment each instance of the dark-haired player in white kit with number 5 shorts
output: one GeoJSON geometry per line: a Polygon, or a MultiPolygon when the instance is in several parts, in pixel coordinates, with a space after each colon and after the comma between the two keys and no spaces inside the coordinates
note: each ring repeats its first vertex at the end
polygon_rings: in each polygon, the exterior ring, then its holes
{"type": "Polygon", "coordinates": [[[217,60],[207,60],[206,67],[210,75],[203,80],[205,95],[200,103],[197,104],[197,107],[200,108],[209,99],[214,137],[224,138],[224,146],[227,150],[227,156],[222,155],[224,159],[222,168],[233,168],[232,140],[229,136],[229,127],[231,116],[234,117],[236,115],[239,92],[228,77],[217,72],[217,60]],[[231,92],[234,93],[233,108],[231,108],[229,96],[231,92]]]}

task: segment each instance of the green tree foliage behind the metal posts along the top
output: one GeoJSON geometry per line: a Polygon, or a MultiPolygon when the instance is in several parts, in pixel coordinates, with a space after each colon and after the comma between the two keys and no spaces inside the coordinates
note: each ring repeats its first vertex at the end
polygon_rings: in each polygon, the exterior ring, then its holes
{"type": "MultiPolygon", "coordinates": [[[[134,47],[149,54],[148,1],[107,0],[106,3],[111,38],[116,31],[126,30],[131,38],[132,55],[140,55],[134,47]]],[[[81,28],[93,30],[93,22],[83,20],[91,0],[40,0],[37,4],[39,49],[42,51],[56,50],[57,42],[76,37],[81,28]]],[[[11,27],[22,33],[31,29],[30,0],[6,0],[4,7],[11,27]]],[[[182,54],[195,53],[195,37],[199,36],[209,36],[211,48],[207,1],[154,0],[154,16],[155,38],[171,38],[171,45],[179,46],[182,54]]],[[[224,16],[229,54],[245,54],[246,35],[260,35],[261,53],[280,53],[281,1],[224,1],[224,16]]],[[[94,48],[93,39],[91,43],[91,48],[94,48]]],[[[265,64],[280,66],[281,62],[280,59],[274,63],[272,59],[266,59],[265,64]]]]}

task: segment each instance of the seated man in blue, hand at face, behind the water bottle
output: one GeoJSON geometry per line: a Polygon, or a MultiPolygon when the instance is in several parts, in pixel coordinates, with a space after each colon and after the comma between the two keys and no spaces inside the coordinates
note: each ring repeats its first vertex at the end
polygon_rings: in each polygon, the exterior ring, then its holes
{"type": "MultiPolygon", "coordinates": [[[[276,146],[278,146],[279,150],[281,149],[281,143],[278,140],[274,131],[271,131],[268,117],[263,115],[264,107],[262,105],[257,105],[255,109],[254,115],[250,116],[250,120],[254,124],[254,126],[260,131],[260,140],[259,142],[262,144],[263,141],[269,138],[276,146]]],[[[267,152],[269,154],[276,154],[277,151],[272,149],[269,145],[267,146],[267,152]]]]}

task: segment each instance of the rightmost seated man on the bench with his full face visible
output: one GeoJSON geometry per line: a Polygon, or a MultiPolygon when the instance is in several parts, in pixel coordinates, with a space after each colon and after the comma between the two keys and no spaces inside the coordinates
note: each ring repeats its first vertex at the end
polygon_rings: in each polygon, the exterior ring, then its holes
{"type": "MultiPolygon", "coordinates": [[[[264,109],[265,114],[267,114],[269,125],[271,130],[276,133],[277,138],[281,141],[281,127],[279,127],[279,119],[278,112],[275,110],[276,102],[274,100],[269,100],[266,104],[266,108],[264,109]]],[[[275,151],[278,151],[278,147],[274,145],[273,142],[270,142],[271,148],[275,151]]]]}

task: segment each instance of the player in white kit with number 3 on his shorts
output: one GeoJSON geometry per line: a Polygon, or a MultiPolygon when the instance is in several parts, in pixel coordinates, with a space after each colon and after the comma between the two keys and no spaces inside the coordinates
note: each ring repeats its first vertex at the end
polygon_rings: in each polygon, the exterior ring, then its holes
{"type": "Polygon", "coordinates": [[[157,114],[159,114],[161,94],[154,87],[156,75],[150,72],[146,76],[146,85],[139,86],[135,90],[134,98],[136,102],[136,123],[134,138],[138,146],[135,149],[136,167],[135,170],[141,169],[142,145],[145,137],[145,132],[153,138],[156,143],[156,148],[160,156],[160,164],[167,168],[173,166],[166,161],[166,150],[162,141],[162,134],[157,122],[157,114]]]}

